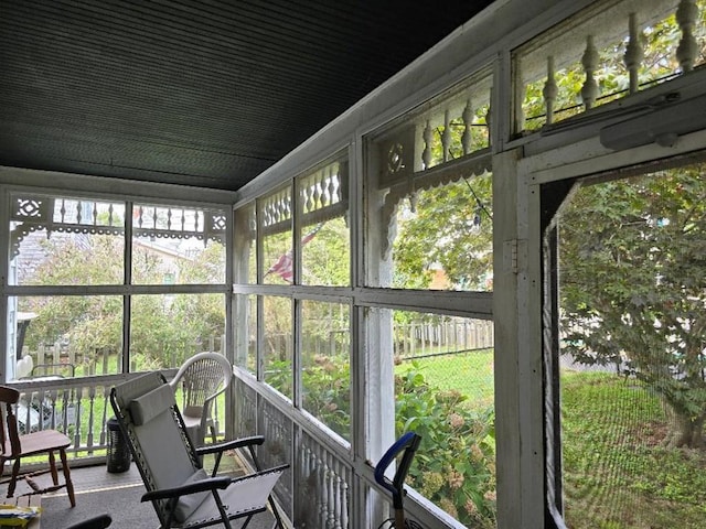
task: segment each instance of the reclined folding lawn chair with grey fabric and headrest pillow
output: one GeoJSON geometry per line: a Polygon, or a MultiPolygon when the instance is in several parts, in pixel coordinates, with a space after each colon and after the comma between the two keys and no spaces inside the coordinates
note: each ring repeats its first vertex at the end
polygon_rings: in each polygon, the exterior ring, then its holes
{"type": "Polygon", "coordinates": [[[160,373],[149,373],[128,380],[110,392],[110,402],[122,434],[128,441],[152,501],[161,528],[195,529],[222,526],[243,518],[244,525],[255,515],[268,510],[274,527],[284,529],[271,492],[289,465],[260,471],[255,446],[263,436],[210,444],[196,449],[174,400],[174,391],[160,373]],[[224,451],[247,447],[257,472],[243,477],[216,476],[224,451]],[[215,455],[211,476],[201,457],[215,455]]]}

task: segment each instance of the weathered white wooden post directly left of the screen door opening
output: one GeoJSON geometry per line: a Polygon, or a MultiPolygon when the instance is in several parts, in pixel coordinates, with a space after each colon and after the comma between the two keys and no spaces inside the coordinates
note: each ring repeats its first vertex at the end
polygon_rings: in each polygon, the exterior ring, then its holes
{"type": "MultiPolygon", "coordinates": [[[[520,151],[493,158],[493,319],[498,528],[544,527],[541,278],[527,268],[527,184],[520,151]],[[536,314],[535,314],[536,313],[536,314]],[[536,320],[536,321],[535,321],[536,320]]],[[[539,247],[538,241],[531,245],[539,247]]]]}

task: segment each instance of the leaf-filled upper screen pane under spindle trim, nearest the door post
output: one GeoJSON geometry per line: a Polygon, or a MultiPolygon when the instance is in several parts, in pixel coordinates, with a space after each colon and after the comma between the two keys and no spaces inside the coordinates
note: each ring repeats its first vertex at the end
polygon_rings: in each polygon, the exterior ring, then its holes
{"type": "Polygon", "coordinates": [[[400,199],[392,287],[492,291],[491,174],[400,199]]]}

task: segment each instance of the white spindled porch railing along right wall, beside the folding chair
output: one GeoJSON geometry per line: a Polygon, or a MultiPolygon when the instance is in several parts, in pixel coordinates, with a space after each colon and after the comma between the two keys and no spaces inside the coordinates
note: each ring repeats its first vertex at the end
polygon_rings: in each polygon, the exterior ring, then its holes
{"type": "MultiPolygon", "coordinates": [[[[367,527],[365,514],[371,509],[363,498],[373,497],[368,494],[373,490],[382,492],[374,483],[373,466],[355,464],[351,447],[340,436],[314,423],[253,377],[236,369],[233,384],[234,435],[265,436],[266,442],[258,452],[265,467],[284,462],[291,465],[276,494],[293,526],[300,529],[367,527]]],[[[378,497],[387,496],[383,492],[378,497]]],[[[464,527],[424,498],[418,501],[413,498],[418,495],[411,495],[405,509],[422,527],[464,527]]],[[[382,521],[377,520],[372,527],[382,521]]]]}

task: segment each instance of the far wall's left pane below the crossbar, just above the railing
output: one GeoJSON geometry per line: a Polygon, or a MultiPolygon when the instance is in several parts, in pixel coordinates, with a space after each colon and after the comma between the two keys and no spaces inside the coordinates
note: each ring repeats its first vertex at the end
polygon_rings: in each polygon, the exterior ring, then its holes
{"type": "Polygon", "coordinates": [[[121,373],[121,296],[10,298],[9,307],[14,378],[121,373]]]}

